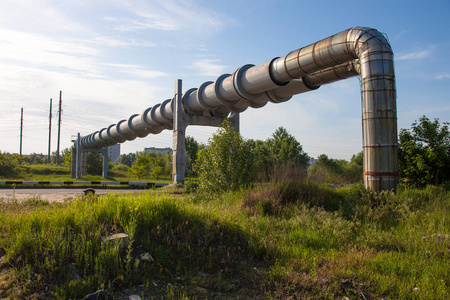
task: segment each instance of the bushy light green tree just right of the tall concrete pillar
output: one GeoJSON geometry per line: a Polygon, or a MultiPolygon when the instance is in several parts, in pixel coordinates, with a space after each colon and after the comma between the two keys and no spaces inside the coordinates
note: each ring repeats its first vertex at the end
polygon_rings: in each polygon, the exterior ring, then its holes
{"type": "Polygon", "coordinates": [[[229,121],[198,151],[194,171],[200,179],[199,188],[208,193],[248,186],[256,175],[251,148],[229,121]]]}

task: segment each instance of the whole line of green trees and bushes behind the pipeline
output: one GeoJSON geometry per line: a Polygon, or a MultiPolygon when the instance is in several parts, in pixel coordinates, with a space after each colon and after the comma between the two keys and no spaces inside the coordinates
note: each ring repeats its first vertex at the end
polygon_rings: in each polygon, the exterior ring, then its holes
{"type": "MultiPolygon", "coordinates": [[[[442,184],[450,179],[449,123],[431,121],[423,116],[410,129],[399,133],[399,172],[401,181],[414,186],[442,184]]],[[[71,148],[62,150],[60,164],[70,166],[71,148]]],[[[363,152],[350,161],[319,155],[309,166],[310,157],[302,145],[285,128],[279,127],[266,140],[244,139],[225,122],[206,144],[186,137],[186,176],[200,182],[214,177],[220,185],[231,187],[264,180],[274,165],[293,165],[308,169],[311,179],[326,183],[354,183],[363,179],[363,152]],[[211,173],[211,172],[215,173],[211,173]]],[[[0,177],[14,175],[21,164],[56,163],[56,152],[48,156],[32,153],[18,155],[0,152],[0,177]]],[[[101,175],[102,154],[88,154],[88,173],[101,175]]],[[[171,178],[172,154],[136,152],[122,154],[109,168],[138,179],[171,178]]]]}

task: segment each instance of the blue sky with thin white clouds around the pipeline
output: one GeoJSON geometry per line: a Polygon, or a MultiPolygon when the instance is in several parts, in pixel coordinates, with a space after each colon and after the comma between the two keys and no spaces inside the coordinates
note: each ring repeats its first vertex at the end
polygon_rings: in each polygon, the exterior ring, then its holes
{"type": "MultiPolygon", "coordinates": [[[[387,35],[394,51],[398,129],[421,116],[450,121],[450,1],[2,0],[0,151],[56,151],[183,92],[355,26],[387,35]]],[[[349,160],[362,150],[358,77],[324,85],[240,117],[246,139],[280,126],[312,157],[349,160]]],[[[206,143],[217,128],[189,126],[206,143]]],[[[121,152],[171,147],[163,131],[121,144],[121,152]]]]}

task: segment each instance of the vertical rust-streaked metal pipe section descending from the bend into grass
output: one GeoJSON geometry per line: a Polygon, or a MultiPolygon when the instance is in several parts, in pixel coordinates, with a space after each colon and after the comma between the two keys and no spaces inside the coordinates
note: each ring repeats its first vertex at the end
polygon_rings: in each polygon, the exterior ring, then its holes
{"type": "Polygon", "coordinates": [[[352,34],[359,37],[364,184],[374,191],[395,189],[399,172],[393,53],[378,32],[352,34]]]}

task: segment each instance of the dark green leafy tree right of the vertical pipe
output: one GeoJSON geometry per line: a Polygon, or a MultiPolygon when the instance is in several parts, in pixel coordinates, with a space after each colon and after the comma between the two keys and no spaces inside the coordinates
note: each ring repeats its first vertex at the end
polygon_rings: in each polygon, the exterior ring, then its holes
{"type": "Polygon", "coordinates": [[[448,122],[423,116],[411,129],[399,134],[400,176],[417,186],[441,184],[450,179],[450,132],[448,122]]]}

